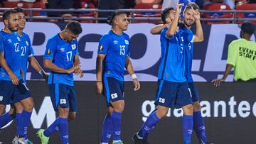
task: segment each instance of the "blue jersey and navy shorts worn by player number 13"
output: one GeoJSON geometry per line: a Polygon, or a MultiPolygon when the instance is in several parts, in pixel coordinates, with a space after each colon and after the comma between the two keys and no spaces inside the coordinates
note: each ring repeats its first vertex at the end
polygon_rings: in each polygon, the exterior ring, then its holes
{"type": "Polygon", "coordinates": [[[102,77],[107,106],[124,99],[124,67],[129,52],[129,35],[109,31],[100,38],[98,54],[105,55],[102,77]]]}

